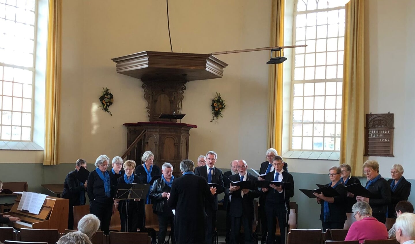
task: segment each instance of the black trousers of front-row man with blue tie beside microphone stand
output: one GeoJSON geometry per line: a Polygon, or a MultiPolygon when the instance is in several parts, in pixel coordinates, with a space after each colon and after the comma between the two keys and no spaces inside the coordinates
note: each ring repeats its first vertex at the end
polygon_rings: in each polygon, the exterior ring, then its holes
{"type": "Polygon", "coordinates": [[[265,204],[266,211],[266,225],[268,226],[268,237],[266,239],[267,244],[275,244],[275,230],[276,220],[278,219],[278,225],[281,233],[281,244],[285,244],[285,227],[286,223],[286,210],[285,204],[265,204]]]}

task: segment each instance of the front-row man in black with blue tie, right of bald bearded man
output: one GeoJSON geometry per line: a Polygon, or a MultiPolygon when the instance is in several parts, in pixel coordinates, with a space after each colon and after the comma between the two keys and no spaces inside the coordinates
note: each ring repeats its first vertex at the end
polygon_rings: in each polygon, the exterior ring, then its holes
{"type": "Polygon", "coordinates": [[[265,193],[265,212],[268,227],[268,244],[275,244],[276,219],[280,226],[281,244],[285,244],[286,213],[290,211],[290,198],[294,196],[294,179],[283,170],[283,159],[275,156],[272,161],[274,171],[265,176],[266,181],[284,182],[284,185],[269,184],[269,188],[261,188],[265,193]]]}

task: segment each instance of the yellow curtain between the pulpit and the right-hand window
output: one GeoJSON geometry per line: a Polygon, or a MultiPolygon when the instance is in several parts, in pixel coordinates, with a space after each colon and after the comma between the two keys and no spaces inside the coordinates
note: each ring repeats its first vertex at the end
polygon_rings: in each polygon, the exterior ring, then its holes
{"type": "MultiPolygon", "coordinates": [[[[284,46],[285,0],[272,1],[271,46],[284,46]]],[[[268,147],[282,154],[283,64],[270,65],[268,111],[268,147]]]]}

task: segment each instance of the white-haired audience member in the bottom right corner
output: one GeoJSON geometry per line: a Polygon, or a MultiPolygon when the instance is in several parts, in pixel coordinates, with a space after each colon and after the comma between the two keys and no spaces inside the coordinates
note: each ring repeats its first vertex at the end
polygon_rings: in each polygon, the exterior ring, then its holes
{"type": "Polygon", "coordinates": [[[400,244],[415,242],[415,214],[403,213],[396,219],[395,236],[400,244]]]}

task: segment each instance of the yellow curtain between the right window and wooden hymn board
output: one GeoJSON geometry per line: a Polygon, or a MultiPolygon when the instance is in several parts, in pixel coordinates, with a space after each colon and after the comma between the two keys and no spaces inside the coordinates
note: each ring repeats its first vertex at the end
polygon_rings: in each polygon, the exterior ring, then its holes
{"type": "Polygon", "coordinates": [[[364,162],[364,0],[346,4],[340,163],[363,176],[364,162]]]}

